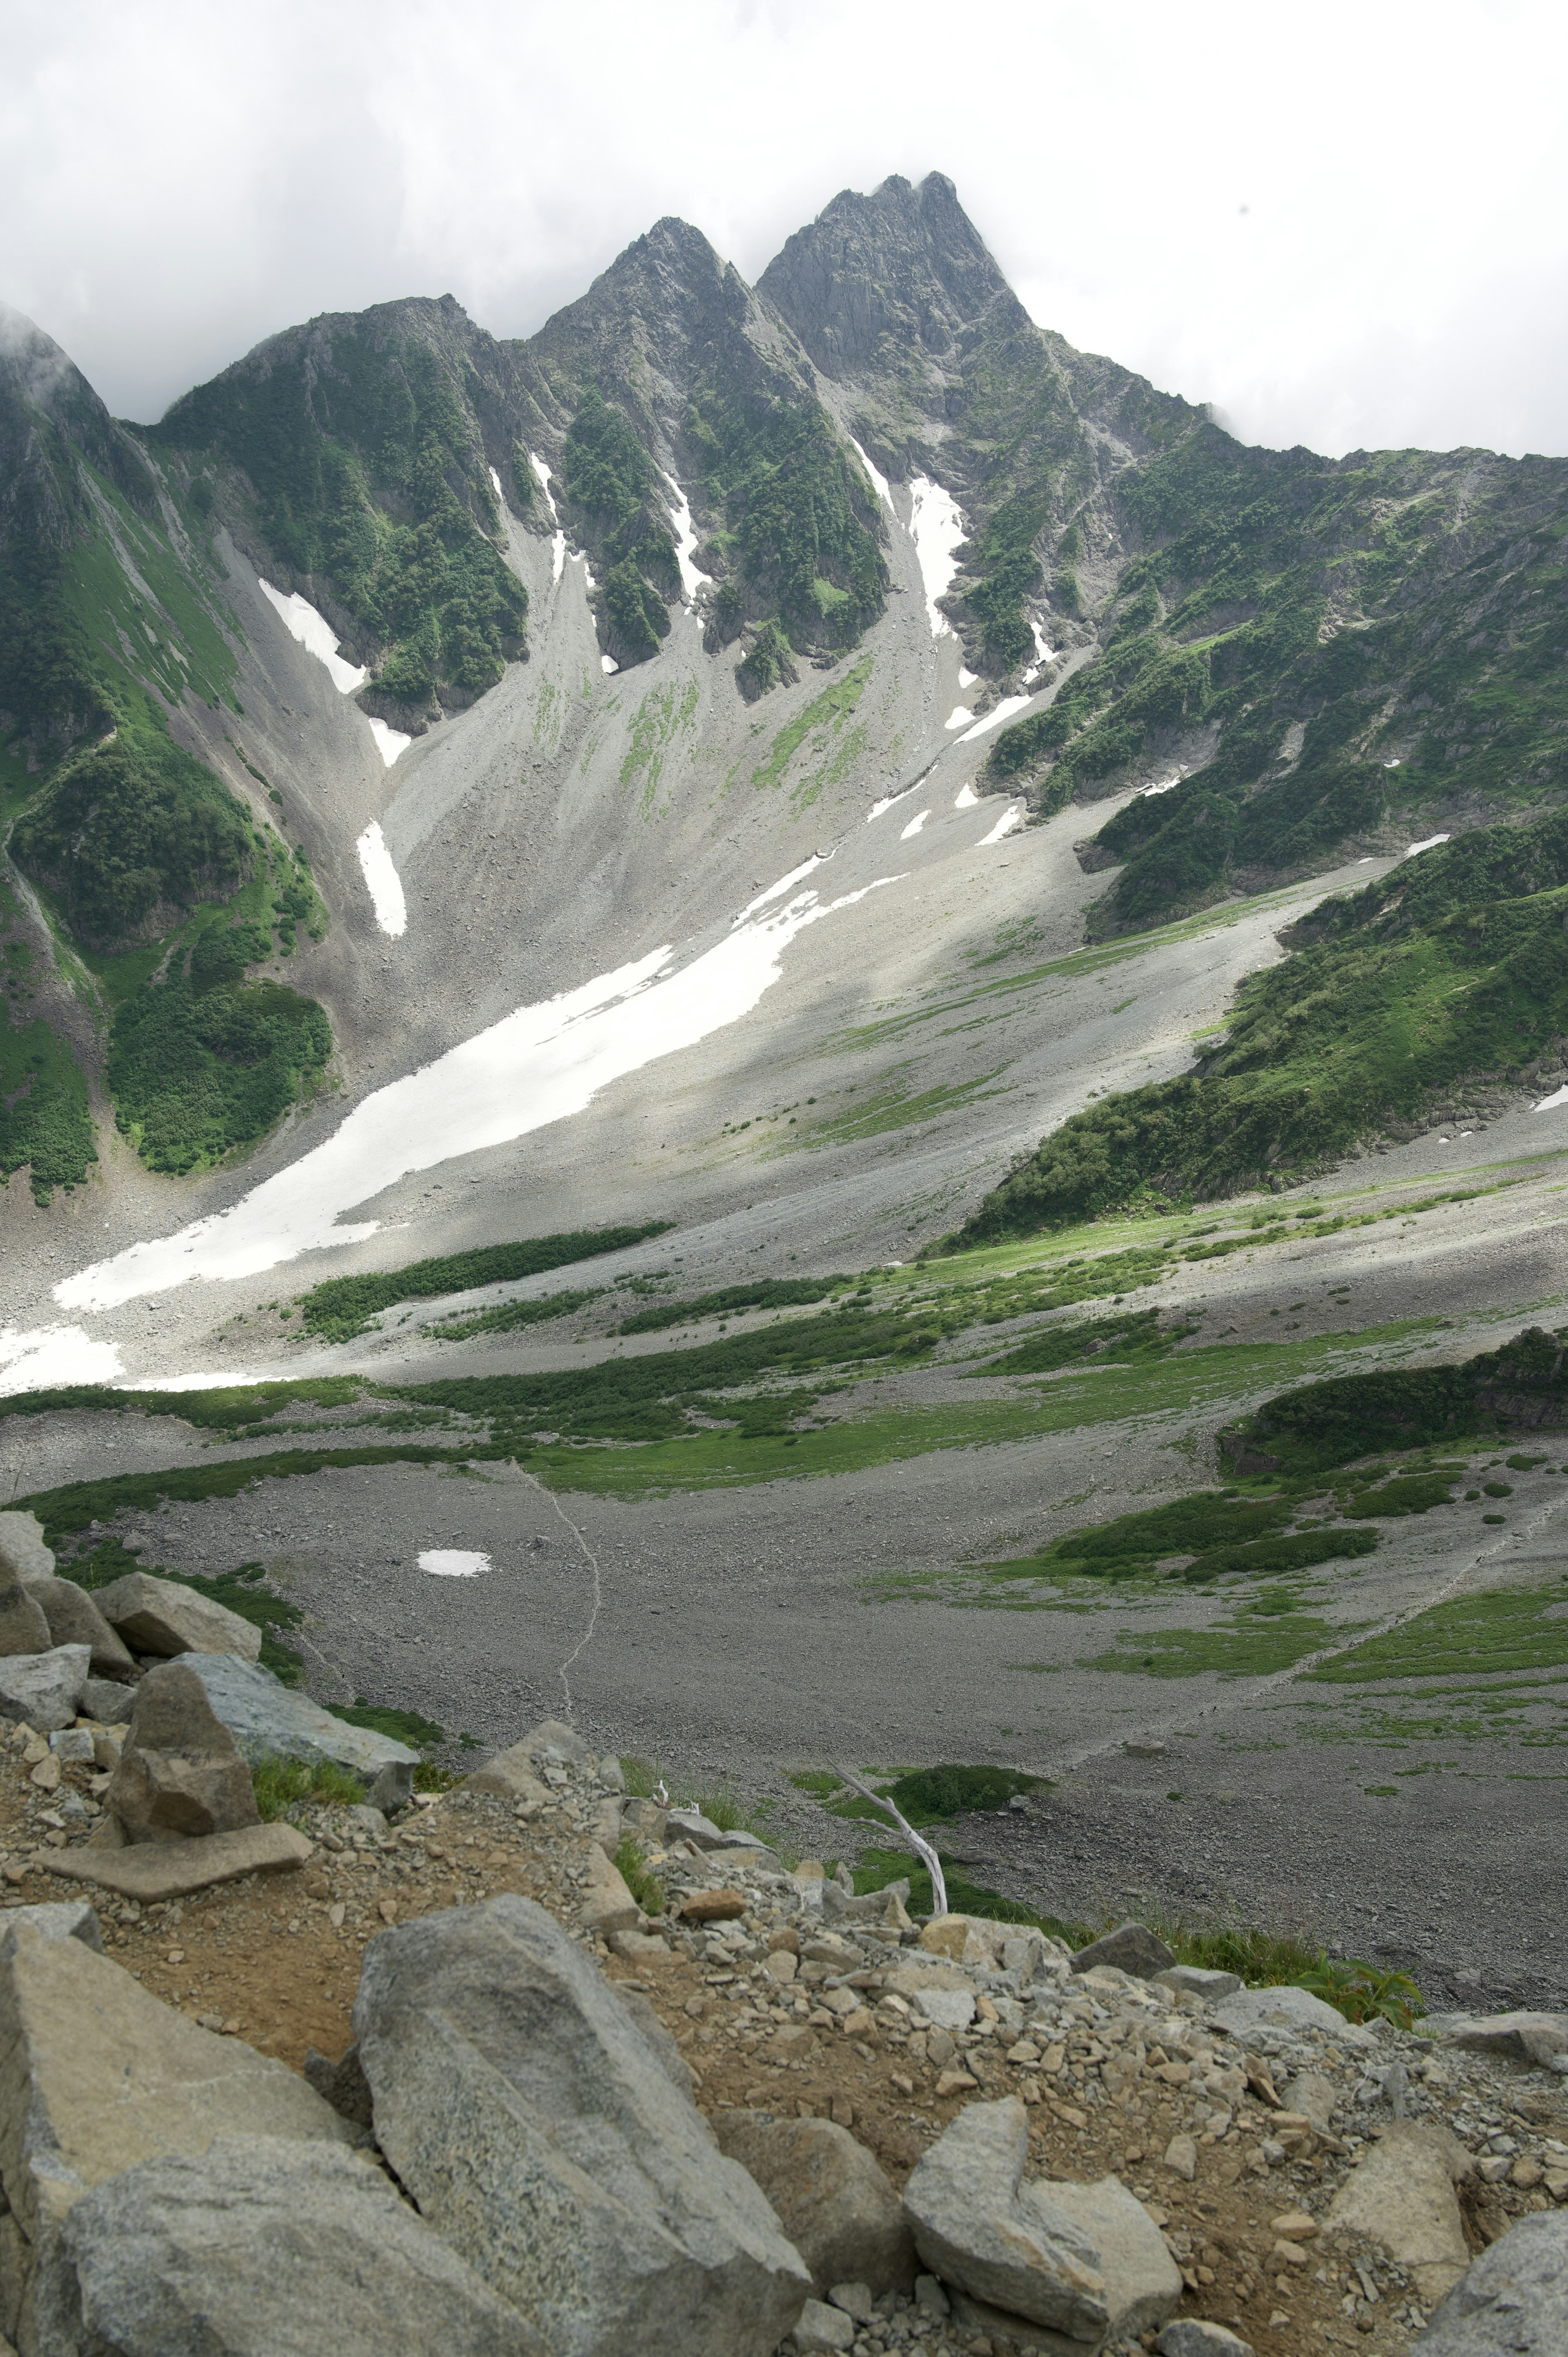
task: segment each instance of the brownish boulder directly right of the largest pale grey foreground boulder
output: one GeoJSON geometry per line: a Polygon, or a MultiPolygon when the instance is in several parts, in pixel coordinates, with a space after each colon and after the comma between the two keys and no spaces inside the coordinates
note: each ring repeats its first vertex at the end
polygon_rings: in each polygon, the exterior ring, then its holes
{"type": "Polygon", "coordinates": [[[818,2291],[908,2291],[915,2239],[882,2164],[830,2119],[719,2112],[719,2152],[762,2185],[818,2291]]]}

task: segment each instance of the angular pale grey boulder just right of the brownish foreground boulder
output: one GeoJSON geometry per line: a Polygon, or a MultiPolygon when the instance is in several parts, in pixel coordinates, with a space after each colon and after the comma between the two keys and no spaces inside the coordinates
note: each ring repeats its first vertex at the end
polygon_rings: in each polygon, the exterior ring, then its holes
{"type": "Polygon", "coordinates": [[[915,2249],[946,2284],[1096,2350],[1111,2319],[1099,2249],[1023,2183],[1026,2159],[1016,2095],[962,2110],[903,2187],[915,2249]]]}

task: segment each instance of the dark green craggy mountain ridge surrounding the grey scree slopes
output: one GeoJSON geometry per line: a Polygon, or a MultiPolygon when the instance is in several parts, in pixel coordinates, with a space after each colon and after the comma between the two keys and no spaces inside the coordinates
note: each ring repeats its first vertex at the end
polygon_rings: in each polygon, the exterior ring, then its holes
{"type": "MultiPolygon", "coordinates": [[[[1193,1075],[1078,1115],[967,1235],[1320,1169],[1568,1035],[1568,464],[1245,448],[1037,328],[931,174],[844,191],[755,288],[663,219],[528,339],[450,295],[325,313],[153,427],[0,316],[0,1171],[50,1202],[113,1120],[198,1176],[335,1087],[358,823],[340,844],[257,759],[304,738],[252,660],[257,580],[316,610],[396,745],[531,660],[540,582],[580,556],[606,679],[658,681],[686,610],[726,712],[783,700],[762,790],[872,709],[889,509],[922,488],[962,519],[931,594],[976,707],[1019,709],[981,792],[1118,797],[1078,846],[1108,872],[1092,933],[1455,837],[1403,900],[1323,910],[1193,1075]]],[[[648,693],[622,780],[674,728],[648,693]]]]}

